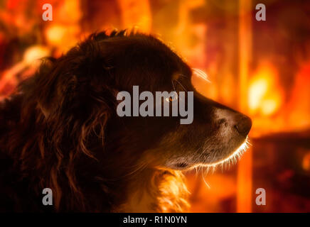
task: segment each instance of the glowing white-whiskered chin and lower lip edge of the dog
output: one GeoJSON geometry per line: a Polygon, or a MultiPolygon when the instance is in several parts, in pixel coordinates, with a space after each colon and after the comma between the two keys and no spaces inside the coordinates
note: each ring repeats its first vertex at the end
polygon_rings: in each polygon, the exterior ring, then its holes
{"type": "Polygon", "coordinates": [[[231,150],[229,155],[225,157],[218,157],[213,162],[198,162],[198,163],[190,163],[186,161],[176,162],[170,166],[173,170],[192,170],[196,167],[216,167],[218,165],[230,165],[235,164],[237,160],[239,160],[243,153],[249,147],[249,140],[246,138],[243,143],[241,143],[237,149],[231,150]]]}

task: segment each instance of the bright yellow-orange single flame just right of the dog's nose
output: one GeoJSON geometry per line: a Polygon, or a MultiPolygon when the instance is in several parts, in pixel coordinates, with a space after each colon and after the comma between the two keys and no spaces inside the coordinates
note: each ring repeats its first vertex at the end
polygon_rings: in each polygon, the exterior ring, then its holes
{"type": "Polygon", "coordinates": [[[252,136],[282,131],[286,127],[284,92],[279,84],[277,69],[271,63],[262,62],[252,75],[247,104],[253,119],[252,136]]]}

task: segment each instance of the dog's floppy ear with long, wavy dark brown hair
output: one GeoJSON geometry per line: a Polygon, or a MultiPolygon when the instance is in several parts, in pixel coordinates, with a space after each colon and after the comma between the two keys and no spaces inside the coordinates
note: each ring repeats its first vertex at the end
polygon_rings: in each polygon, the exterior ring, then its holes
{"type": "Polygon", "coordinates": [[[99,42],[86,40],[63,57],[43,62],[38,73],[19,87],[24,100],[21,138],[29,128],[36,132],[21,145],[21,156],[24,163],[31,163],[25,166],[40,173],[41,187],[53,189],[55,209],[64,193],[71,198],[66,206],[86,204],[76,165],[89,162],[83,155],[99,158],[90,146],[105,146],[105,126],[116,101],[105,56],[99,42]]]}

